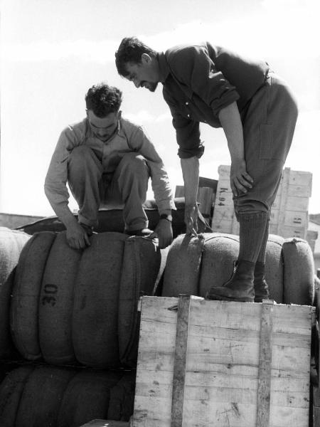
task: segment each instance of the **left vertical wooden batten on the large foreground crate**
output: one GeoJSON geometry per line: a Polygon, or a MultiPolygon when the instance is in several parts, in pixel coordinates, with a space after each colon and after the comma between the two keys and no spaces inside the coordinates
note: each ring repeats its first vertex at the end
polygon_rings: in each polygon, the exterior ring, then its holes
{"type": "Polygon", "coordinates": [[[171,427],[183,427],[183,397],[189,331],[190,295],[180,295],[176,321],[174,379],[172,381],[171,427]]]}

